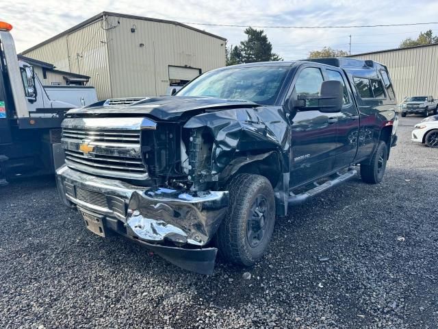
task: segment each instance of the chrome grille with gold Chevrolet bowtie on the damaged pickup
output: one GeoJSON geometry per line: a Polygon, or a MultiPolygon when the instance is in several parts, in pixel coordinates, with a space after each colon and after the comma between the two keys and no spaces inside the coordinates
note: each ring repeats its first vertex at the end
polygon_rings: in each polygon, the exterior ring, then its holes
{"type": "Polygon", "coordinates": [[[140,132],[156,127],[143,117],[66,118],[61,139],[66,164],[91,175],[147,180],[140,132]]]}

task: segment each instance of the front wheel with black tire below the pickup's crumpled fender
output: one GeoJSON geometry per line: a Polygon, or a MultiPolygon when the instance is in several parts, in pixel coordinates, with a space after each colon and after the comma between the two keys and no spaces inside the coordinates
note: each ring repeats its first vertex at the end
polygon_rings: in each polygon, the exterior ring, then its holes
{"type": "Polygon", "coordinates": [[[274,231],[274,191],[265,177],[243,173],[231,180],[229,193],[229,210],[216,234],[216,246],[225,260],[251,266],[265,254],[274,231]]]}

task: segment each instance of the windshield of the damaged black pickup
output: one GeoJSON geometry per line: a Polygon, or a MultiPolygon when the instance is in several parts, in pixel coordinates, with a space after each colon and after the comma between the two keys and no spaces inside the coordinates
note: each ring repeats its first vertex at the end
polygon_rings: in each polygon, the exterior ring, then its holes
{"type": "Polygon", "coordinates": [[[289,69],[288,66],[256,66],[211,71],[190,82],[176,96],[244,99],[272,105],[289,69]]]}

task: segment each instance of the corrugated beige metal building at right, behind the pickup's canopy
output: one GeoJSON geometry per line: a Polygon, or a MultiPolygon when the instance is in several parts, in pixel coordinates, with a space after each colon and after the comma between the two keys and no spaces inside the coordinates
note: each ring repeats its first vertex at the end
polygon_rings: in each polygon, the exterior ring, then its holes
{"type": "Polygon", "coordinates": [[[438,45],[388,49],[349,57],[385,64],[399,102],[415,95],[438,98],[438,45]]]}

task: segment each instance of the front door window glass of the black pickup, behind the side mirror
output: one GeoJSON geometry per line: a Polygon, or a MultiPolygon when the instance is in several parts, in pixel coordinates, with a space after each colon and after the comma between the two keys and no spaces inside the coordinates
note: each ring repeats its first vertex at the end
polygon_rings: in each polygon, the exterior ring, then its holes
{"type": "MultiPolygon", "coordinates": [[[[305,95],[319,95],[321,84],[324,81],[322,72],[316,67],[303,69],[295,82],[297,97],[305,95]]],[[[306,106],[318,106],[318,99],[306,99],[306,106]]]]}

